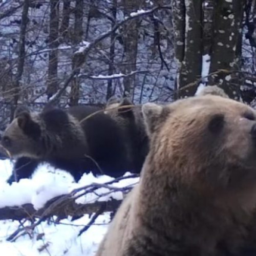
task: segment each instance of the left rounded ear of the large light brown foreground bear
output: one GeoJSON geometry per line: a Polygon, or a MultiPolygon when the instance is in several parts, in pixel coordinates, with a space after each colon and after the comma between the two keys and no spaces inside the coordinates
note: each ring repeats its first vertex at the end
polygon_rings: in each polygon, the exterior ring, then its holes
{"type": "Polygon", "coordinates": [[[148,135],[156,131],[157,127],[165,120],[168,113],[169,109],[167,107],[155,103],[145,103],[142,105],[142,114],[148,135]]]}

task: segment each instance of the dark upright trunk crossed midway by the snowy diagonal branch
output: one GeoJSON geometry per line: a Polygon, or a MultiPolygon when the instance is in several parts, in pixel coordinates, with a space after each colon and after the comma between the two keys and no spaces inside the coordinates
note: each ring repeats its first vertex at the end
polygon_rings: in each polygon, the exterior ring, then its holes
{"type": "MultiPolygon", "coordinates": [[[[75,7],[75,25],[74,25],[74,39],[73,45],[78,45],[79,42],[82,41],[83,29],[82,29],[82,22],[83,22],[83,0],[76,0],[76,7],[75,7]]],[[[75,70],[80,67],[80,55],[74,54],[72,59],[72,70],[75,70]]],[[[70,105],[77,105],[80,96],[80,79],[78,77],[80,70],[77,70],[76,75],[72,79],[71,82],[71,91],[70,91],[70,105]]]]}

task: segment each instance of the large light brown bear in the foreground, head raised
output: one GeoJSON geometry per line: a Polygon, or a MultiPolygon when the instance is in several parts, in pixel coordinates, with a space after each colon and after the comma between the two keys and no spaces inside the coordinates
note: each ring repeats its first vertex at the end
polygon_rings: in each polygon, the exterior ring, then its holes
{"type": "Polygon", "coordinates": [[[150,152],[96,256],[237,255],[256,203],[255,111],[212,95],[142,111],[150,152]]]}

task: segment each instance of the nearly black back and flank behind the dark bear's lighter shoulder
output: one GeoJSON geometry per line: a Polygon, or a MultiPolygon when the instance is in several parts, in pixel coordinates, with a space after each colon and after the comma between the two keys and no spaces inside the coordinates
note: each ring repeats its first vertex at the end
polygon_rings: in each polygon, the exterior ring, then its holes
{"type": "Polygon", "coordinates": [[[80,122],[90,155],[104,166],[105,173],[118,177],[133,167],[129,136],[116,120],[101,110],[97,106],[74,106],[67,112],[80,122]]]}

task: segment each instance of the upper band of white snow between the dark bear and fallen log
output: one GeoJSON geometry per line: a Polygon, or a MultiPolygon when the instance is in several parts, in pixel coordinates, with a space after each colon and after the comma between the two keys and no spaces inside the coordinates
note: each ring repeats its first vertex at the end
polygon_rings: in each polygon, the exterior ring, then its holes
{"type": "MultiPolygon", "coordinates": [[[[9,168],[9,174],[11,166],[8,160],[0,161],[0,168],[2,170],[9,168]]],[[[124,176],[127,175],[129,175],[129,172],[124,176]]],[[[94,177],[92,173],[89,173],[88,175],[84,174],[79,183],[75,183],[70,174],[59,169],[54,169],[48,164],[40,165],[32,179],[22,179],[18,183],[14,182],[12,185],[9,185],[6,183],[7,177],[8,176],[6,176],[5,179],[2,177],[0,180],[0,208],[31,203],[35,209],[40,209],[50,199],[69,194],[72,190],[79,187],[92,183],[104,184],[105,182],[113,180],[113,178],[109,176],[94,177]]],[[[134,185],[138,182],[138,179],[139,178],[120,180],[118,183],[113,183],[112,186],[124,187],[134,185]]],[[[100,187],[93,193],[79,197],[76,199],[76,203],[94,203],[95,201],[108,201],[112,198],[122,200],[122,192],[100,187]]]]}

